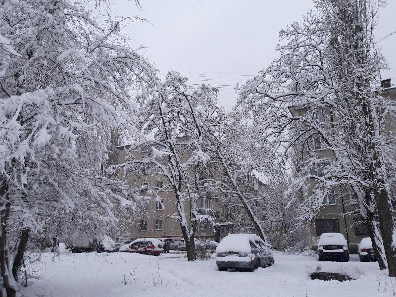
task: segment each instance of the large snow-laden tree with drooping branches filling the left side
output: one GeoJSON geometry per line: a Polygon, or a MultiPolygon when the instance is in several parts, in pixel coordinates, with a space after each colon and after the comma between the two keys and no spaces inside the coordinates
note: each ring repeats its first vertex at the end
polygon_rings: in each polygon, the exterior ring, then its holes
{"type": "Polygon", "coordinates": [[[117,223],[115,205],[139,202],[103,168],[111,132],[135,131],[129,91],[155,71],[127,46],[122,19],[99,25],[79,3],[1,3],[2,296],[19,289],[29,237],[75,228],[95,237],[117,223]]]}

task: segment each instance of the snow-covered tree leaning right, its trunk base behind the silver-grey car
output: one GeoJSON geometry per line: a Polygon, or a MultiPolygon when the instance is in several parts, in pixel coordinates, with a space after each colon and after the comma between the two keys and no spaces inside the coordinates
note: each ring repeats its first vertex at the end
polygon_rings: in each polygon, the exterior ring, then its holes
{"type": "Polygon", "coordinates": [[[212,163],[218,163],[223,176],[208,180],[232,207],[244,209],[257,235],[266,241],[258,210],[263,206],[265,191],[258,191],[258,180],[254,173],[268,173],[272,167],[267,158],[267,149],[254,146],[250,139],[250,128],[239,111],[222,113],[218,124],[211,131],[212,163]],[[238,203],[230,198],[236,198],[238,203]]]}

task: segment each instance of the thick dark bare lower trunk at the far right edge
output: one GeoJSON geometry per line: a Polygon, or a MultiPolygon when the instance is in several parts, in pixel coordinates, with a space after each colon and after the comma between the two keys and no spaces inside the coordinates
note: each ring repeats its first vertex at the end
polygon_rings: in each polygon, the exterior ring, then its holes
{"type": "Polygon", "coordinates": [[[376,193],[375,200],[378,207],[380,230],[388,262],[389,276],[396,277],[396,247],[394,245],[396,243],[393,242],[396,226],[393,217],[392,203],[388,194],[386,189],[382,189],[379,193],[376,193]]]}

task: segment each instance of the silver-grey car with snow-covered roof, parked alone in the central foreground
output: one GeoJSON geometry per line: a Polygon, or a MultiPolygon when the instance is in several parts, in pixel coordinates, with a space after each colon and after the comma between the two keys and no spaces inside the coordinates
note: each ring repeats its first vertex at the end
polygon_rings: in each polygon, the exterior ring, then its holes
{"type": "Polygon", "coordinates": [[[220,271],[228,268],[253,271],[274,263],[272,246],[254,234],[229,234],[220,241],[216,253],[220,271]]]}

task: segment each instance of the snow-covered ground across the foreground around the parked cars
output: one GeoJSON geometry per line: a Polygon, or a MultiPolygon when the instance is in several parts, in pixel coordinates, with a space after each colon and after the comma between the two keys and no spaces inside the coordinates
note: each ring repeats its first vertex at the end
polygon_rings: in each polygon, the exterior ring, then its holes
{"type": "Polygon", "coordinates": [[[318,262],[315,257],[275,253],[275,264],[254,272],[221,272],[214,259],[188,262],[185,253],[159,257],[131,253],[44,254],[23,296],[51,297],[385,297],[396,280],[377,263],[318,262]],[[356,280],[310,280],[316,270],[347,273],[356,280]],[[126,279],[126,284],[125,284],[126,279]]]}

